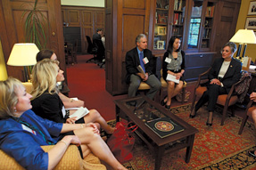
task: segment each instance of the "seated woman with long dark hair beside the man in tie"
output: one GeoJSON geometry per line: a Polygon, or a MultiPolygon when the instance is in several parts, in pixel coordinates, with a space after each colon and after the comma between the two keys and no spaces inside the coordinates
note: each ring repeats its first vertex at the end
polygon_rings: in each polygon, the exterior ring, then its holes
{"type": "Polygon", "coordinates": [[[180,50],[181,40],[178,36],[171,36],[167,52],[162,60],[162,77],[168,84],[167,96],[161,101],[161,105],[166,109],[170,108],[171,98],[176,96],[183,87],[183,74],[185,72],[185,53],[180,50]],[[179,83],[167,80],[167,76],[172,75],[179,80],[179,83]]]}

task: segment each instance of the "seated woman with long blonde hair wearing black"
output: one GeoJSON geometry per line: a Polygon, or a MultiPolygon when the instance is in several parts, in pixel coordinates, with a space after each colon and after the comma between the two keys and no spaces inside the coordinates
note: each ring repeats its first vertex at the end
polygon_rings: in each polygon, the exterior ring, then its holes
{"type": "MultiPolygon", "coordinates": [[[[114,130],[104,118],[97,112],[91,111],[87,116],[76,121],[76,117],[69,118],[69,110],[66,112],[58,95],[56,83],[63,81],[63,71],[59,69],[59,61],[45,59],[37,62],[32,71],[32,110],[40,117],[47,118],[57,123],[98,123],[106,133],[114,130]]],[[[75,110],[70,110],[70,115],[75,110]]]]}

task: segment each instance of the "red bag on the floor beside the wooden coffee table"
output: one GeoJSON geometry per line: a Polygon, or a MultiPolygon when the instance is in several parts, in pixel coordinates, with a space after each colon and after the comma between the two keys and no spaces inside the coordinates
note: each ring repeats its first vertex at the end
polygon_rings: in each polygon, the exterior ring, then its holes
{"type": "Polygon", "coordinates": [[[120,122],[117,122],[116,128],[108,139],[107,144],[121,164],[128,162],[133,158],[133,147],[135,143],[135,138],[133,132],[136,131],[137,125],[132,125],[128,127],[132,122],[129,122],[125,119],[121,119],[120,122]]]}

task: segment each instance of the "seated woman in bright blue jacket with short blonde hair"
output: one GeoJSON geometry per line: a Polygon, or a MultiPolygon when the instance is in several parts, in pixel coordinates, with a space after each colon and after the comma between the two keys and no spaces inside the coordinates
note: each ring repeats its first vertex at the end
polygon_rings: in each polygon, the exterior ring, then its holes
{"type": "Polygon", "coordinates": [[[114,158],[94,124],[62,124],[38,117],[31,110],[31,95],[15,78],[1,81],[0,91],[0,149],[25,169],[54,169],[70,144],[78,145],[83,158],[91,150],[112,168],[126,169],[114,158]],[[54,147],[45,152],[42,145],[54,147]]]}

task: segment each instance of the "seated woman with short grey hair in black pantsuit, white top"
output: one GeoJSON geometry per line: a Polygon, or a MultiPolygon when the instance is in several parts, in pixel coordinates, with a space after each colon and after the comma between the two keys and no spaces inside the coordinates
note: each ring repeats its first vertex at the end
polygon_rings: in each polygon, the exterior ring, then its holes
{"type": "Polygon", "coordinates": [[[202,94],[200,100],[195,104],[189,117],[194,118],[196,111],[208,101],[209,116],[206,125],[212,125],[212,115],[219,95],[229,93],[231,86],[238,82],[241,77],[242,63],[233,58],[235,51],[235,43],[228,42],[224,45],[221,50],[222,57],[216,59],[211,66],[207,91],[202,94]]]}

